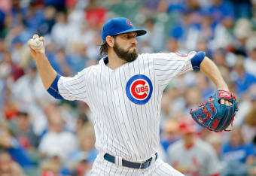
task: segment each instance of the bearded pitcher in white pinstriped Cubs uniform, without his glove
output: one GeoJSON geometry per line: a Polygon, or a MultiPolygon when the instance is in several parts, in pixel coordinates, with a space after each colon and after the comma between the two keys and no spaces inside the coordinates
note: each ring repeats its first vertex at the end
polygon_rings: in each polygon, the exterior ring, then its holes
{"type": "MultiPolygon", "coordinates": [[[[34,35],[28,42],[48,93],[56,99],[86,102],[93,112],[99,155],[90,175],[183,175],[157,158],[163,89],[174,77],[200,69],[218,90],[229,93],[204,52],[139,54],[136,37],[145,34],[126,18],[108,20],[100,49],[105,57],[75,77],[62,77],[53,70],[44,38],[34,35]],[[42,47],[34,46],[34,40],[42,47]]],[[[231,102],[220,99],[225,107],[231,102]]]]}

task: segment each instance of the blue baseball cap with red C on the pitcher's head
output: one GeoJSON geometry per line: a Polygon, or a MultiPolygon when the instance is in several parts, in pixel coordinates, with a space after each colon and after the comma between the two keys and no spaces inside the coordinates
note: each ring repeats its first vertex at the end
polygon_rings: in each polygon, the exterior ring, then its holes
{"type": "Polygon", "coordinates": [[[120,35],[127,32],[137,32],[137,36],[145,35],[145,33],[147,33],[144,29],[136,29],[131,20],[127,18],[112,18],[103,26],[102,41],[105,41],[105,38],[108,35],[120,35]]]}

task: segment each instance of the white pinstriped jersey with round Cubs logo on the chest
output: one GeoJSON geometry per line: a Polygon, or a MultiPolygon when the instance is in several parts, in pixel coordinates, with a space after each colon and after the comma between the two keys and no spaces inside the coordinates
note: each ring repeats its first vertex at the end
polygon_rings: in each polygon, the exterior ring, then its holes
{"type": "Polygon", "coordinates": [[[146,53],[114,70],[101,59],[75,77],[60,77],[59,93],[90,106],[100,152],[145,161],[159,146],[163,89],[172,78],[192,70],[195,54],[146,53]]]}

